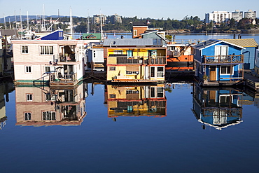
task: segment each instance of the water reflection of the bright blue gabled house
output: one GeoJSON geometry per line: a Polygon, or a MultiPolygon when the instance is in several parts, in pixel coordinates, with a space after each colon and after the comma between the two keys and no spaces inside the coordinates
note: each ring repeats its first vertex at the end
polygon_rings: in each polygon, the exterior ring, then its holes
{"type": "Polygon", "coordinates": [[[193,113],[206,126],[223,130],[242,122],[242,92],[234,88],[201,88],[193,85],[193,113]]]}

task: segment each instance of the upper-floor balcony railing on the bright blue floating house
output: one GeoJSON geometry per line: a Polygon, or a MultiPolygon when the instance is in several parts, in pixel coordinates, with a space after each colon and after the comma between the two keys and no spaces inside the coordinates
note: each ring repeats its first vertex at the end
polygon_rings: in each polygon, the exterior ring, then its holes
{"type": "Polygon", "coordinates": [[[205,64],[244,62],[244,55],[218,55],[218,56],[203,55],[202,57],[203,57],[203,62],[205,64]]]}

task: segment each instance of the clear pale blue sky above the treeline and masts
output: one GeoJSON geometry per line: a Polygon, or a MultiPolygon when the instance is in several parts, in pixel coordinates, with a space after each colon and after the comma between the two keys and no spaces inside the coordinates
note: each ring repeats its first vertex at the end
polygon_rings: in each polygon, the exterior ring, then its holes
{"type": "Polygon", "coordinates": [[[125,17],[137,18],[155,18],[155,19],[167,19],[174,18],[176,20],[183,19],[186,15],[198,16],[202,20],[205,13],[211,13],[212,11],[248,11],[251,9],[259,13],[258,0],[246,0],[246,1],[205,1],[205,0],[131,0],[131,1],[115,1],[115,0],[99,0],[99,1],[79,1],[79,0],[0,0],[0,18],[9,15],[42,15],[43,4],[45,8],[45,15],[57,15],[59,10],[60,15],[69,16],[69,9],[72,9],[72,15],[87,17],[87,10],[89,15],[96,15],[100,13],[100,10],[104,15],[118,15],[125,17]],[[4,15],[3,15],[4,14],[4,15]]]}

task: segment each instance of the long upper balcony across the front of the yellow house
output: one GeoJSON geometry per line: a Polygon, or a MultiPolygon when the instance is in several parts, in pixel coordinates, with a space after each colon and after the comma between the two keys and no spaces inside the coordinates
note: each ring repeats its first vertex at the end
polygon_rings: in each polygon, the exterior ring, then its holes
{"type": "Polygon", "coordinates": [[[156,57],[127,57],[127,56],[109,56],[108,64],[167,64],[165,56],[156,57]]]}

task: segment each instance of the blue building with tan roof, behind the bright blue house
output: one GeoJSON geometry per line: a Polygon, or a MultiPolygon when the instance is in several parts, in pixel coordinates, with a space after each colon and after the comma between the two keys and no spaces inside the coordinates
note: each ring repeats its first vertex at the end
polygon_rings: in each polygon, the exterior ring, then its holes
{"type": "Polygon", "coordinates": [[[228,43],[232,43],[246,50],[243,52],[244,54],[244,69],[254,69],[255,68],[255,53],[258,48],[258,43],[256,43],[255,39],[220,39],[223,41],[227,41],[228,43]]]}

